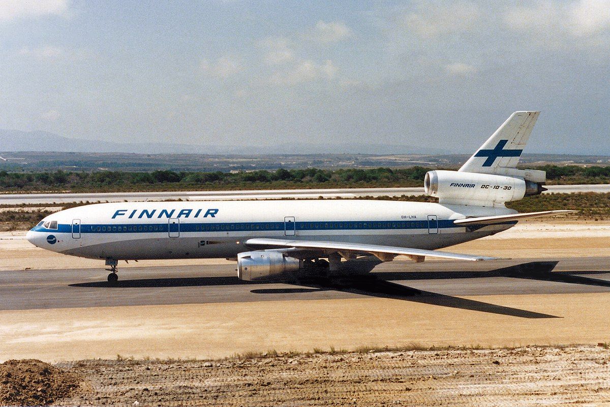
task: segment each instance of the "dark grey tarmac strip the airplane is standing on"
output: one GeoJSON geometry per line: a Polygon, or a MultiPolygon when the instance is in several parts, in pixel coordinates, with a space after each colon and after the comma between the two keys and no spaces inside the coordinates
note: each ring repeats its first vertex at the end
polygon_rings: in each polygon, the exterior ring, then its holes
{"type": "Polygon", "coordinates": [[[106,282],[102,268],[3,271],[0,311],[382,297],[544,318],[558,315],[459,297],[610,292],[610,258],[394,261],[378,265],[365,276],[292,283],[241,281],[234,269],[234,265],[126,268],[119,271],[115,286],[106,282]]]}

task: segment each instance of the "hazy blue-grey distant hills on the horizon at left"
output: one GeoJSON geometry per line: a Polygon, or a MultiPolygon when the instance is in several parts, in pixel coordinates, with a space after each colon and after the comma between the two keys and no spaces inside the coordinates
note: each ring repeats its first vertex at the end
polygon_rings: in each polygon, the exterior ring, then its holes
{"type": "Polygon", "coordinates": [[[0,151],[57,151],[61,153],[136,154],[450,154],[439,148],[403,145],[282,143],[273,146],[206,146],[172,143],[117,143],[63,137],[46,131],[0,129],[0,151]]]}

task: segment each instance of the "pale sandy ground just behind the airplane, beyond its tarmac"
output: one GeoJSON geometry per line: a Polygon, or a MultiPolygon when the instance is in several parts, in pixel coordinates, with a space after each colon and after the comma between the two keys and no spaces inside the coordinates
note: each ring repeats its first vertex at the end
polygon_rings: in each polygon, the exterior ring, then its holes
{"type": "MultiPolygon", "coordinates": [[[[99,260],[81,259],[34,247],[25,240],[25,234],[26,231],[0,232],[0,270],[104,268],[104,263],[99,260]]],[[[610,256],[609,242],[610,222],[608,221],[580,223],[569,220],[554,223],[537,221],[522,222],[495,236],[444,250],[513,259],[610,256]]],[[[129,264],[121,262],[120,267],[231,263],[234,264],[224,259],[149,260],[129,264]]]]}

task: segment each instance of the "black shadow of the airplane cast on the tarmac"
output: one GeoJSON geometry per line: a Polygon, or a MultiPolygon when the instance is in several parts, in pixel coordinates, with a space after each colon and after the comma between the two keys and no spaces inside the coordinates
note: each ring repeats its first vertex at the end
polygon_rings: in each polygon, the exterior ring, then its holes
{"type": "MultiPolygon", "coordinates": [[[[368,264],[359,264],[362,272],[373,270],[379,262],[371,261],[368,264]]],[[[402,284],[392,283],[393,280],[419,280],[419,279],[455,279],[455,278],[486,278],[486,277],[511,277],[538,279],[544,281],[558,281],[562,283],[586,284],[591,286],[610,287],[610,281],[584,277],[582,275],[607,273],[607,272],[553,272],[558,262],[528,262],[513,265],[511,267],[497,268],[486,272],[370,272],[354,276],[341,277],[308,277],[295,280],[278,281],[242,281],[237,276],[213,276],[213,277],[188,277],[188,278],[148,278],[122,280],[117,283],[106,281],[70,284],[73,287],[106,287],[106,288],[145,288],[145,287],[193,287],[193,286],[228,286],[242,284],[268,284],[282,282],[295,284],[301,287],[294,288],[265,288],[253,289],[254,294],[300,294],[335,290],[351,294],[368,295],[370,297],[393,298],[395,300],[413,301],[423,304],[434,304],[450,308],[467,309],[471,311],[490,312],[492,314],[509,315],[512,317],[541,319],[560,318],[556,315],[541,314],[539,312],[526,311],[518,308],[510,308],[483,301],[468,300],[466,298],[453,297],[451,295],[438,294],[429,291],[414,289],[402,284]],[[310,287],[310,288],[303,288],[310,287]]]]}

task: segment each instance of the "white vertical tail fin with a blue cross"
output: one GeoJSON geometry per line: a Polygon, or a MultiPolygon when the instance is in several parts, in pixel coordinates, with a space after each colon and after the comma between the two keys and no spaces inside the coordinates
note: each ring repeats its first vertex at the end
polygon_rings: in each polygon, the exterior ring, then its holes
{"type": "Polygon", "coordinates": [[[459,171],[501,174],[516,168],[540,112],[514,112],[459,171]]]}

